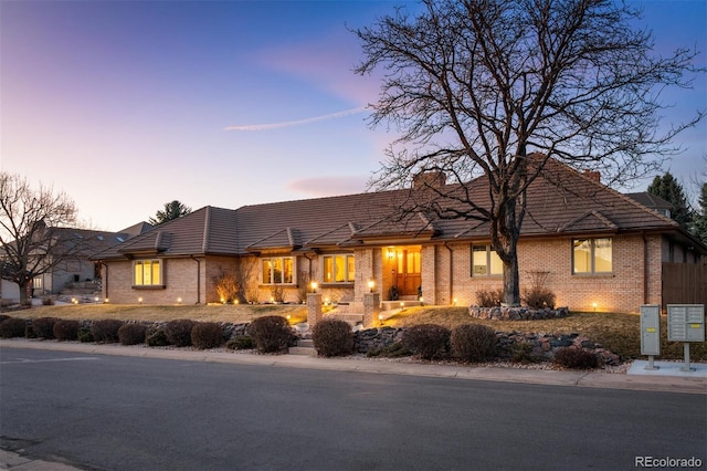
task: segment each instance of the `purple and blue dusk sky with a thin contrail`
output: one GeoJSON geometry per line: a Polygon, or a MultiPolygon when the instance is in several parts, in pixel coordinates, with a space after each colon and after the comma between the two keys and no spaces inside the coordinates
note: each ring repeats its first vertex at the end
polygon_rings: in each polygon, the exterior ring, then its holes
{"type": "MultiPolygon", "coordinates": [[[[352,69],[361,28],[401,1],[0,0],[0,167],[65,191],[117,231],[191,208],[366,190],[394,138],[371,130],[379,83],[352,69]]],[[[707,1],[640,1],[664,54],[707,65],[707,1]]],[[[707,109],[707,78],[664,123],[707,109]]],[[[669,169],[707,171],[707,122],[669,169]]],[[[667,169],[667,167],[666,167],[667,169]]],[[[632,190],[642,191],[646,181],[632,190]]]]}

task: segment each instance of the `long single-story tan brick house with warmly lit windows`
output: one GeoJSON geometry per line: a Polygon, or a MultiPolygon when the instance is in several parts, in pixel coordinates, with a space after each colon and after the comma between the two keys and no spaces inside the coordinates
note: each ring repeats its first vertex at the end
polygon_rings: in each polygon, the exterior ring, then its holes
{"type": "MultiPolygon", "coordinates": [[[[423,212],[391,218],[415,191],[425,191],[420,182],[429,190],[445,178],[423,174],[403,190],[235,210],[204,207],[93,260],[102,265],[112,303],[219,302],[217,282],[228,272],[245,281],[249,302],[298,302],[316,281],[325,300],[352,308],[370,282],[383,301],[394,286],[401,300],[474,304],[479,290],[503,285],[488,223],[423,212]]],[[[488,200],[485,178],[446,188],[488,200]]],[[[636,312],[642,304],[662,304],[669,253],[685,264],[707,254],[675,221],[608,188],[597,175],[556,161],[531,184],[527,200],[518,243],[521,291],[541,274],[558,305],[571,310],[636,312]]]]}

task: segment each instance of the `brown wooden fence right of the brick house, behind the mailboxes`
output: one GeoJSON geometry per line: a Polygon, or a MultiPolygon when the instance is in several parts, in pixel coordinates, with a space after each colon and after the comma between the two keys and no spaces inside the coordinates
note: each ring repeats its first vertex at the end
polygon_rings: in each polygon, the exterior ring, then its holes
{"type": "Polygon", "coordinates": [[[707,263],[663,263],[663,310],[668,304],[707,306],[707,263]]]}

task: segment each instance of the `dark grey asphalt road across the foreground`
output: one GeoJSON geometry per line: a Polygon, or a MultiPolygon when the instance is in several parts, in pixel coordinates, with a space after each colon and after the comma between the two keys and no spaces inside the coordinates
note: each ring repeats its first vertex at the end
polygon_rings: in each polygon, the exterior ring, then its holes
{"type": "Polygon", "coordinates": [[[707,465],[704,395],[0,349],[0,448],[101,470],[707,465]]]}

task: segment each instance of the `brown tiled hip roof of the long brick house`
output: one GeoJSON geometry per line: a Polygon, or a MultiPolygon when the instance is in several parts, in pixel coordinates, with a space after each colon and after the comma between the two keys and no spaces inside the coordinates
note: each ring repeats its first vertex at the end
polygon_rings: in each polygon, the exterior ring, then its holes
{"type": "MultiPolygon", "coordinates": [[[[447,205],[445,208],[455,209],[456,205],[456,209],[464,209],[453,200],[462,191],[482,206],[489,201],[484,177],[464,185],[449,185],[444,189],[452,197],[440,202],[447,205]]],[[[94,259],[149,254],[243,255],[403,241],[489,239],[489,224],[485,221],[442,219],[425,211],[402,214],[400,208],[410,205],[413,191],[366,192],[239,209],[208,206],[107,249],[94,259]]],[[[542,174],[529,186],[527,202],[521,238],[626,231],[684,232],[672,219],[556,160],[549,160],[542,174]]]]}

